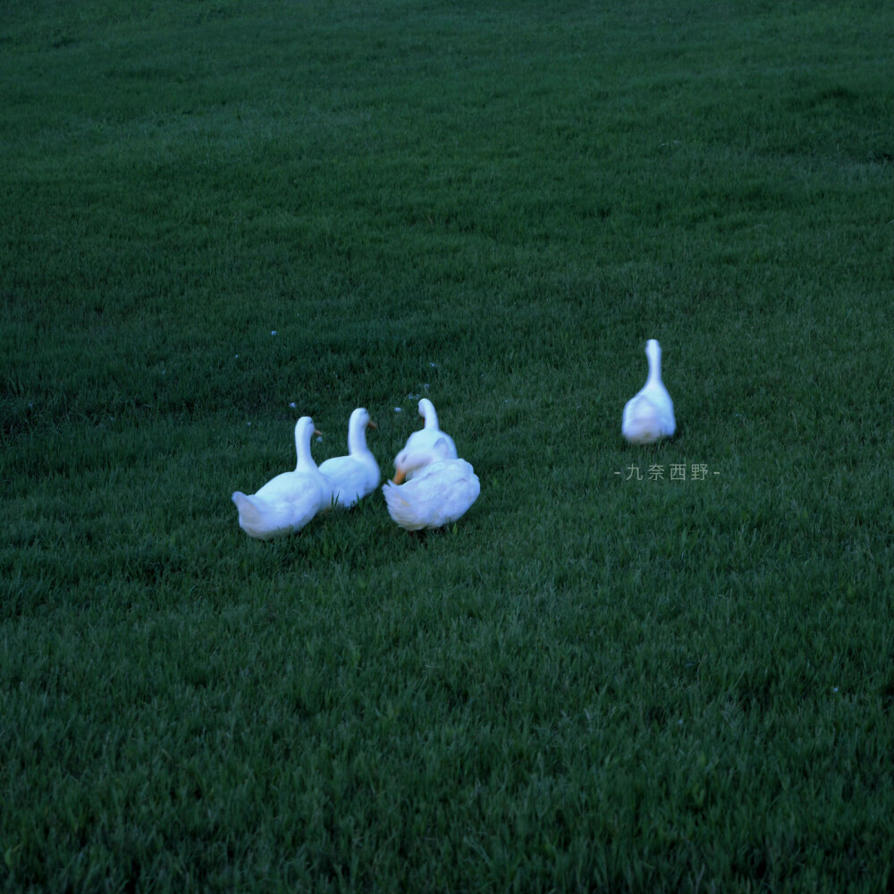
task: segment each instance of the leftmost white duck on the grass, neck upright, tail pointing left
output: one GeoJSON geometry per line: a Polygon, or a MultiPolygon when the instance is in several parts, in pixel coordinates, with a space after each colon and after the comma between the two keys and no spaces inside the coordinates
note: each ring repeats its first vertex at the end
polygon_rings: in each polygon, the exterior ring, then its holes
{"type": "Polygon", "coordinates": [[[332,501],[332,485],[316,468],[310,455],[310,438],[320,434],[314,420],[302,416],[295,424],[295,451],[298,465],[294,472],[271,478],[256,493],[236,491],[232,502],[239,510],[239,527],[249,537],[269,540],[299,531],[317,512],[332,501]]]}

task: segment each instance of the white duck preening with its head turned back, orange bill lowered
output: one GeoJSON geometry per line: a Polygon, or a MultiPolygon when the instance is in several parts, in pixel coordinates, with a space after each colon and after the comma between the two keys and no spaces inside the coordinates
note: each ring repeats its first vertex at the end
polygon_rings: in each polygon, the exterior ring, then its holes
{"type": "Polygon", "coordinates": [[[465,515],[481,493],[475,470],[451,456],[446,437],[409,454],[407,461],[416,465],[399,464],[394,480],[382,486],[388,514],[406,531],[449,525],[465,515]],[[406,484],[396,483],[404,479],[406,484]]]}

